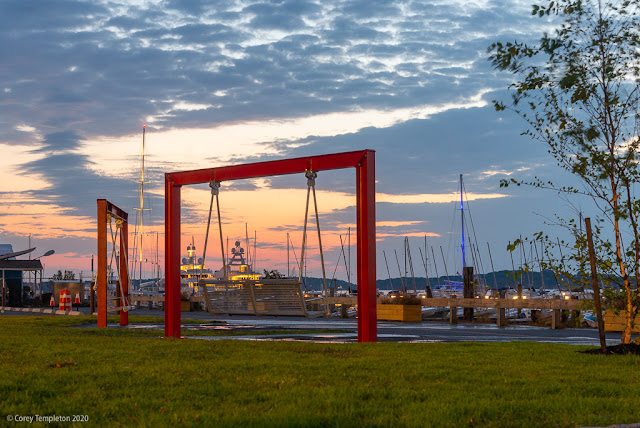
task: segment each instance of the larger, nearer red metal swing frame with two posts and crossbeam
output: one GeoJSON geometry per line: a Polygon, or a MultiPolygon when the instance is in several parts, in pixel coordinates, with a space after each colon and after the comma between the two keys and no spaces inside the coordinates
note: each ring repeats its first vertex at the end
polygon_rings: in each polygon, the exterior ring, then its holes
{"type": "Polygon", "coordinates": [[[164,335],[180,337],[180,189],[306,171],[356,169],[358,342],[377,342],[375,152],[360,150],[165,174],[164,335]]]}

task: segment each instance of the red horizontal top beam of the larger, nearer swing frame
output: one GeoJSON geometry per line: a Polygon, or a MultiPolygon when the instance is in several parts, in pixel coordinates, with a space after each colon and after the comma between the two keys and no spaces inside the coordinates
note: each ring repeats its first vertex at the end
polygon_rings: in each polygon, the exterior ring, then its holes
{"type": "Polygon", "coordinates": [[[211,180],[239,180],[273,175],[296,174],[309,170],[326,171],[330,169],[351,168],[359,166],[368,152],[372,152],[372,150],[221,166],[218,168],[195,169],[192,171],[167,173],[165,177],[172,182],[173,185],[182,186],[186,184],[208,183],[211,180]]]}

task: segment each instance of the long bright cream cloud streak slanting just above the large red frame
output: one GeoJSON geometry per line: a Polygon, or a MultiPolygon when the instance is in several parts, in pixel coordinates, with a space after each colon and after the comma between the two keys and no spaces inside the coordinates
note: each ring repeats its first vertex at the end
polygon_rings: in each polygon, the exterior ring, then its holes
{"type": "MultiPolygon", "coordinates": [[[[473,108],[486,105],[482,95],[486,90],[467,99],[440,105],[319,114],[302,118],[265,119],[229,123],[212,128],[183,128],[154,132],[147,129],[147,153],[156,159],[171,160],[175,170],[219,166],[231,158],[248,154],[278,154],[265,145],[273,141],[298,141],[307,137],[328,137],[357,132],[366,127],[386,128],[411,119],[424,119],[449,109],[473,108]],[[210,158],[216,159],[211,165],[210,158]]],[[[153,123],[153,120],[149,121],[153,123]]],[[[94,170],[119,176],[128,174],[122,158],[139,154],[141,136],[97,137],[88,140],[83,153],[91,156],[94,170]],[[109,150],[105,150],[108,147],[109,150]]]]}

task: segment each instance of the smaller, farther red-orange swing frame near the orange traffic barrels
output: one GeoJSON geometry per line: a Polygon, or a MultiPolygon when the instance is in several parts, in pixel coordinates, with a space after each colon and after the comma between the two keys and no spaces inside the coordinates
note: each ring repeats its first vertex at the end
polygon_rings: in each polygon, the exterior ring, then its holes
{"type": "MultiPolygon", "coordinates": [[[[108,216],[122,220],[122,230],[120,231],[120,281],[122,281],[122,293],[129,301],[129,271],[127,268],[127,257],[129,251],[129,223],[127,214],[106,199],[98,199],[98,273],[96,274],[96,284],[98,284],[98,328],[107,327],[107,222],[108,216]],[[122,257],[122,255],[125,255],[122,257]]],[[[117,288],[117,296],[120,296],[120,287],[117,288]]],[[[121,306],[121,305],[120,305],[121,306]]],[[[120,325],[129,324],[129,313],[120,312],[120,325]]]]}

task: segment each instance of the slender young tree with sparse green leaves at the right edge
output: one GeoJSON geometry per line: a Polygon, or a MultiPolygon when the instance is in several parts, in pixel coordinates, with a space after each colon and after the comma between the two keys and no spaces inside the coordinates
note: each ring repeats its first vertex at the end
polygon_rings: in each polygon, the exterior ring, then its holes
{"type": "Polygon", "coordinates": [[[556,23],[553,34],[545,33],[535,46],[513,41],[489,48],[493,66],[515,77],[512,99],[496,101],[496,109],[524,119],[524,134],[544,143],[582,186],[538,178],[528,184],[586,195],[599,209],[598,262],[616,269],[612,283],[627,313],[623,343],[631,339],[639,303],[640,200],[633,189],[640,177],[639,12],[637,1],[545,1],[533,6],[533,15],[556,23]]]}

